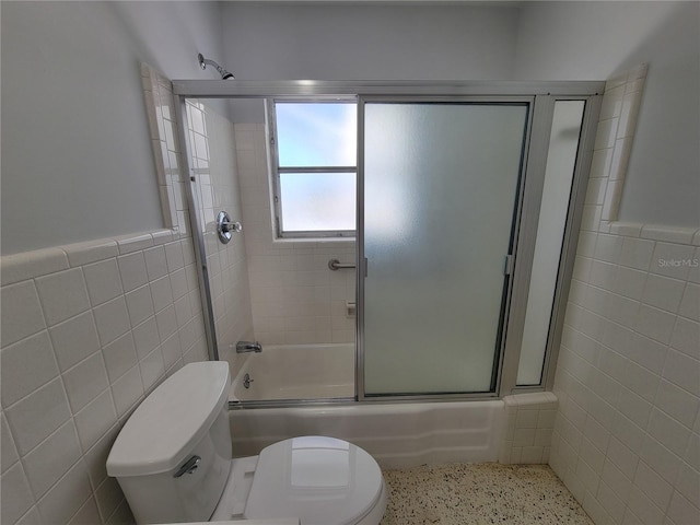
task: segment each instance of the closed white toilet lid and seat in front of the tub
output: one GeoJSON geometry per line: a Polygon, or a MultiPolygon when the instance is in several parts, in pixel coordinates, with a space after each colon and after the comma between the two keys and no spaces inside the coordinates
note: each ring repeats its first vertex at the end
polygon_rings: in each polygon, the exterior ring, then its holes
{"type": "Polygon", "coordinates": [[[262,450],[246,518],[299,517],[302,525],[355,525],[386,506],[380,466],[362,448],[325,436],[284,440],[262,450]]]}

